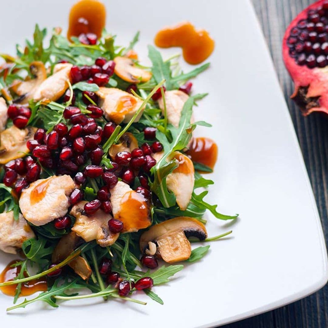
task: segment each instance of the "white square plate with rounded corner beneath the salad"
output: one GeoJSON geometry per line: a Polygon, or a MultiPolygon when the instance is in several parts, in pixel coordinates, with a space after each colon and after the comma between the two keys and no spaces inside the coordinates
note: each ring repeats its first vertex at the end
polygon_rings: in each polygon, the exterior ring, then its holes
{"type": "MultiPolygon", "coordinates": [[[[34,23],[67,27],[73,1],[7,1],[2,6],[1,52],[14,53],[31,38],[34,23]]],[[[208,200],[235,223],[207,214],[208,232],[233,229],[211,243],[200,262],[154,291],[159,305],[66,302],[59,309],[36,304],[5,313],[12,299],[0,295],[1,325],[25,327],[211,327],[268,311],[307,296],[327,281],[327,254],[320,219],[293,125],[264,38],[248,1],[106,1],[108,31],[127,45],[137,30],[136,51],[147,64],[147,44],[165,25],[189,20],[216,42],[211,67],[195,80],[194,92],[209,92],[195,108],[197,128],[214,138],[219,158],[208,200]],[[22,315],[24,313],[24,315],[22,315]]],[[[162,51],[164,57],[180,49],[162,51]]],[[[184,69],[190,70],[183,63],[184,69]]],[[[0,269],[10,257],[0,254],[0,269]]]]}

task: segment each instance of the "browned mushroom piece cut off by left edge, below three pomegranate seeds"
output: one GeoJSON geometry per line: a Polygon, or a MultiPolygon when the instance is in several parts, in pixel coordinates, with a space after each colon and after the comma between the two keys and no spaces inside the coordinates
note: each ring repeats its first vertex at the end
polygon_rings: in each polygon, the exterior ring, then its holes
{"type": "Polygon", "coordinates": [[[18,129],[12,126],[0,133],[0,164],[6,164],[12,159],[24,157],[29,152],[26,146],[33,139],[36,128],[18,129]]]}

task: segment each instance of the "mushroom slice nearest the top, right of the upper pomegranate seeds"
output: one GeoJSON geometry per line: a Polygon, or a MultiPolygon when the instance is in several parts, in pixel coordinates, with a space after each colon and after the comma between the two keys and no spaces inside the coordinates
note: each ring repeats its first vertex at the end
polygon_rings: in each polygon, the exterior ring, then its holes
{"type": "Polygon", "coordinates": [[[136,67],[133,60],[127,57],[115,57],[114,73],[122,80],[130,83],[147,82],[152,73],[136,67]]]}

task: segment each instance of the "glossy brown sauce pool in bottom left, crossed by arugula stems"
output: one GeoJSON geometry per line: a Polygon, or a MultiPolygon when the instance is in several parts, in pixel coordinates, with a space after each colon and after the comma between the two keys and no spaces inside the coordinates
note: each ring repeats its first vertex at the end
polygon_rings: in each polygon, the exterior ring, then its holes
{"type": "MultiPolygon", "coordinates": [[[[21,270],[20,266],[11,267],[13,264],[20,262],[20,260],[11,261],[5,269],[0,273],[0,283],[13,280],[16,278],[21,270]]],[[[24,274],[27,277],[27,274],[24,274]]],[[[0,287],[2,293],[8,296],[15,296],[17,285],[9,285],[0,287]]],[[[20,296],[29,296],[36,292],[45,292],[48,290],[47,280],[45,278],[34,279],[22,284],[20,296]]]]}

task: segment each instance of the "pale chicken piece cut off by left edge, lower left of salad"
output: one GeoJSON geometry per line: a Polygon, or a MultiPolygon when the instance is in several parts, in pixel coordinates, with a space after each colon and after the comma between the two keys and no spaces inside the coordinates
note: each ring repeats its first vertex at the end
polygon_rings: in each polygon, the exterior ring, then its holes
{"type": "Polygon", "coordinates": [[[21,248],[25,240],[35,237],[34,232],[19,214],[16,221],[13,211],[0,214],[0,249],[6,253],[16,254],[16,248],[21,248]]]}

